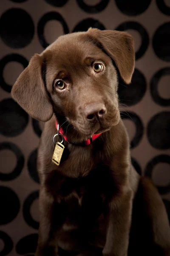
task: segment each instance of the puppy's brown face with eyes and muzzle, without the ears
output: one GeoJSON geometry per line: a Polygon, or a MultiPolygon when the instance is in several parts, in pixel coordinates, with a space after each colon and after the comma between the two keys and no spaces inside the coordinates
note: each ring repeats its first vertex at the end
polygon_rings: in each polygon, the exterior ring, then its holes
{"type": "Polygon", "coordinates": [[[45,79],[56,116],[65,117],[65,125],[71,124],[83,139],[118,124],[117,74],[111,58],[91,41],[73,36],[55,47],[45,53],[51,56],[45,79]]]}

